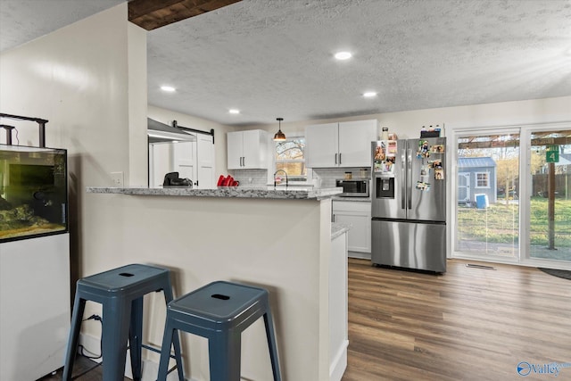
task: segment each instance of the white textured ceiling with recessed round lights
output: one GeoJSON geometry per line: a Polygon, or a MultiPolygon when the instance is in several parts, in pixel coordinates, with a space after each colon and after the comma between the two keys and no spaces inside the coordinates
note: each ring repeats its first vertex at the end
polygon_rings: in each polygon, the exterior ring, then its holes
{"type": "MultiPolygon", "coordinates": [[[[0,48],[122,1],[0,0],[0,48]]],[[[244,0],[147,43],[149,104],[236,126],[571,95],[571,0],[244,0]]]]}

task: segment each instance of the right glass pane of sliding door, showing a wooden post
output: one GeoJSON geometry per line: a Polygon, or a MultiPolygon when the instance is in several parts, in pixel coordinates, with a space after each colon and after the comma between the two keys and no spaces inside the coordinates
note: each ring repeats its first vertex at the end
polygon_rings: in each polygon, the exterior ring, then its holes
{"type": "Polygon", "coordinates": [[[532,134],[530,256],[571,261],[571,130],[532,134]]]}

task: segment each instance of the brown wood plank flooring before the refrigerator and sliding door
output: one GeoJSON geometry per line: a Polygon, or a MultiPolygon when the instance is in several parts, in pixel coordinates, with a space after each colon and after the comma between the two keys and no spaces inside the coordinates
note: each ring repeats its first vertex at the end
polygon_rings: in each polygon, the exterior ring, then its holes
{"type": "MultiPolygon", "coordinates": [[[[343,381],[545,380],[554,375],[521,377],[517,364],[571,365],[571,281],[468,262],[434,276],[350,259],[343,381]]],[[[571,368],[556,379],[571,380],[571,368]]]]}

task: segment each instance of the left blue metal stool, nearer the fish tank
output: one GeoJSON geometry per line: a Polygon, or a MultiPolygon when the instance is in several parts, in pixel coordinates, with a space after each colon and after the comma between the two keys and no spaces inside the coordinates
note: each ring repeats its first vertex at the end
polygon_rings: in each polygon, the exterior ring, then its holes
{"type": "MultiPolygon", "coordinates": [[[[143,296],[161,290],[165,302],[172,301],[169,269],[141,264],[130,264],[79,279],[73,302],[70,337],[62,379],[65,381],[71,379],[86,301],[93,301],[103,304],[103,381],[123,379],[127,340],[131,353],[133,379],[140,380],[141,350],[143,347],[154,350],[142,343],[143,296]]],[[[184,378],[178,335],[174,338],[174,348],[173,357],[177,362],[178,378],[182,381],[184,378]]],[[[167,354],[170,355],[170,352],[167,354]]]]}

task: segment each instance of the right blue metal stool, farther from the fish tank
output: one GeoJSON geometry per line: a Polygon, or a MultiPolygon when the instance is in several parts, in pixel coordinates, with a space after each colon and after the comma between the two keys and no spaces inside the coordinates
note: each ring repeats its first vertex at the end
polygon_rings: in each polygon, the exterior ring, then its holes
{"type": "Polygon", "coordinates": [[[203,286],[167,306],[158,380],[167,377],[170,344],[180,330],[208,338],[212,381],[239,381],[242,332],[262,316],[274,381],[281,381],[268,291],[223,281],[203,286]]]}

